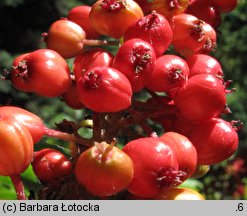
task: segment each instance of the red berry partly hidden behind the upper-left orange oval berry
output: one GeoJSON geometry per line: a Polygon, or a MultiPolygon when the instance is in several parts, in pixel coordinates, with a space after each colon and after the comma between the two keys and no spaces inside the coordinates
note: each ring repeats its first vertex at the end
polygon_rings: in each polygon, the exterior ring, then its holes
{"type": "Polygon", "coordinates": [[[89,20],[91,8],[92,7],[87,5],[72,8],[68,14],[68,20],[79,25],[85,31],[87,39],[97,39],[100,34],[94,30],[89,20]]]}

